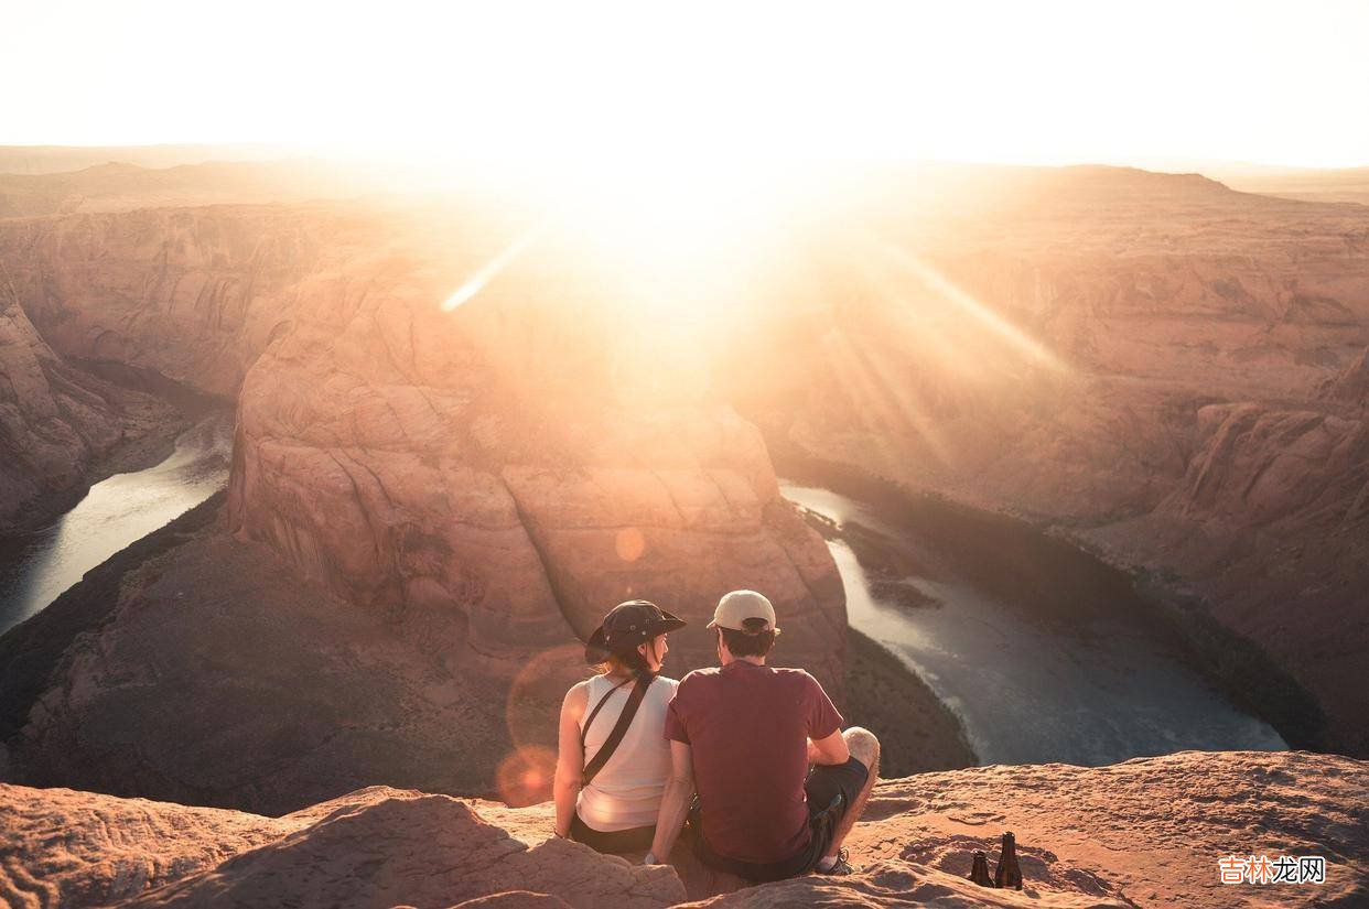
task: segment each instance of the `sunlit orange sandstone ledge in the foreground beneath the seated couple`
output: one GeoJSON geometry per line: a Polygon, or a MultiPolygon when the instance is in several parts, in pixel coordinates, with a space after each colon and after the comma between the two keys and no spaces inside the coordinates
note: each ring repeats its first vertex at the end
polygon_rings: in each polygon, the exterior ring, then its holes
{"type": "Polygon", "coordinates": [[[1197,753],[1105,768],[988,767],[882,783],[850,846],[864,869],[717,894],[548,839],[550,806],[372,787],[279,819],[0,786],[12,906],[1362,905],[1369,769],[1307,753],[1197,753]],[[964,880],[1017,832],[1027,888],[964,880]],[[1320,854],[1322,886],[1221,886],[1217,857],[1320,854]]]}

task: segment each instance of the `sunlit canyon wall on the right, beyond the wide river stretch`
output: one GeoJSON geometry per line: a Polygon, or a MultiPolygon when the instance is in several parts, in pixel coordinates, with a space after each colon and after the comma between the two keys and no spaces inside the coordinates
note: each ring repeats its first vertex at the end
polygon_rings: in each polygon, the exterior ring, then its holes
{"type": "Polygon", "coordinates": [[[1369,208],[1072,170],[820,235],[734,400],[775,444],[1168,578],[1316,697],[1305,745],[1362,754],[1369,208]]]}

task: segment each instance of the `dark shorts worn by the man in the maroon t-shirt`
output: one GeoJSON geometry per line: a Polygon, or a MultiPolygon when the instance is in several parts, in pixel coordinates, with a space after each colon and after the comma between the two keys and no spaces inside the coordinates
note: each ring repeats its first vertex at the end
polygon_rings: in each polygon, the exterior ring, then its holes
{"type": "Polygon", "coordinates": [[[868,779],[869,769],[854,756],[845,764],[835,767],[823,765],[810,769],[808,779],[804,782],[804,791],[808,794],[808,825],[812,830],[812,838],[808,846],[801,849],[798,854],[765,864],[719,856],[709,849],[708,842],[704,839],[704,828],[700,824],[700,805],[695,798],[690,806],[689,817],[694,839],[694,854],[709,868],[726,871],[747,880],[783,880],[808,873],[817,867],[817,860],[827,854],[836,828],[841,827],[842,819],[850,806],[856,804],[860,790],[865,787],[865,780],[868,779]]]}

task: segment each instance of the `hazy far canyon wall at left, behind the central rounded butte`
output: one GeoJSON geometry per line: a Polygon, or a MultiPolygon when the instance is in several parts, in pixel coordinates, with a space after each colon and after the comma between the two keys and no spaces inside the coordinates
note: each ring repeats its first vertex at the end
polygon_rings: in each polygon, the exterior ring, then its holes
{"type": "Polygon", "coordinates": [[[11,294],[63,357],[235,394],[289,327],[289,287],[346,251],[337,208],[146,208],[0,220],[11,294]]]}

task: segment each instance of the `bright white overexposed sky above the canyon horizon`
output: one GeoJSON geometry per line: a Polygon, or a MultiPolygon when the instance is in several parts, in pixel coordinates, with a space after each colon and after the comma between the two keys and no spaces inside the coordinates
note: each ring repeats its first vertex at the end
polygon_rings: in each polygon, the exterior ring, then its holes
{"type": "Polygon", "coordinates": [[[0,144],[1369,164],[1369,0],[10,0],[0,144]]]}

